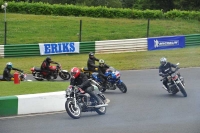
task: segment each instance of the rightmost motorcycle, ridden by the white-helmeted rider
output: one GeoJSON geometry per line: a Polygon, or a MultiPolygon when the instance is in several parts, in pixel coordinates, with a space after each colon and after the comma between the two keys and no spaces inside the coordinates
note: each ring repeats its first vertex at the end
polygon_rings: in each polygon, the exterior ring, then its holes
{"type": "MultiPolygon", "coordinates": [[[[179,63],[176,64],[177,66],[179,63]]],[[[168,80],[168,87],[169,90],[163,85],[163,88],[168,91],[171,94],[176,94],[179,91],[183,94],[184,97],[187,97],[187,93],[185,91],[185,82],[184,78],[180,76],[180,73],[178,72],[180,68],[175,68],[174,71],[168,73],[165,75],[160,81],[163,81],[165,77],[167,77],[168,80]]]]}

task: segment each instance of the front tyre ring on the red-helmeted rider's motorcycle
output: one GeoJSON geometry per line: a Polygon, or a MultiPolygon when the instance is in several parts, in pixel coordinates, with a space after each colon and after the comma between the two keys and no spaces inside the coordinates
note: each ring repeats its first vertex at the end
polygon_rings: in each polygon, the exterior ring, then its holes
{"type": "MultiPolygon", "coordinates": [[[[79,119],[81,117],[81,107],[79,104],[77,104],[78,106],[78,115],[74,115],[74,113],[72,112],[73,110],[71,109],[72,107],[70,107],[70,105],[73,104],[73,99],[68,99],[66,102],[65,102],[65,110],[66,112],[68,113],[68,115],[73,118],[73,119],[79,119]]],[[[73,106],[73,105],[72,105],[73,106]]],[[[74,108],[74,107],[73,107],[74,108]]]]}

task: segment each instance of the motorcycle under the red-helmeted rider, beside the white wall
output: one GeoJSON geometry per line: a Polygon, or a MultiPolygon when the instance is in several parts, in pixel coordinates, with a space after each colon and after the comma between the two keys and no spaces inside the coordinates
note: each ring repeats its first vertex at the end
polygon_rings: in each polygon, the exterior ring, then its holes
{"type": "Polygon", "coordinates": [[[68,115],[74,119],[79,119],[82,112],[95,111],[99,115],[104,115],[106,113],[105,96],[98,90],[97,86],[94,86],[94,91],[100,98],[103,104],[98,105],[97,101],[90,97],[88,93],[81,94],[77,86],[68,88],[66,90],[66,102],[65,109],[68,115]]]}

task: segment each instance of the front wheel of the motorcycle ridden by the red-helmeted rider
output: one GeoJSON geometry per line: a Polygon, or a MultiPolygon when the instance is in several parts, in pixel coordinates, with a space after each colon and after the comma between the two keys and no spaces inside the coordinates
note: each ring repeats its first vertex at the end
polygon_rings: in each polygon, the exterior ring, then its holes
{"type": "Polygon", "coordinates": [[[81,107],[77,104],[75,107],[73,99],[68,99],[65,102],[65,109],[70,117],[73,119],[79,119],[81,117],[81,107]]]}

